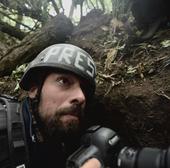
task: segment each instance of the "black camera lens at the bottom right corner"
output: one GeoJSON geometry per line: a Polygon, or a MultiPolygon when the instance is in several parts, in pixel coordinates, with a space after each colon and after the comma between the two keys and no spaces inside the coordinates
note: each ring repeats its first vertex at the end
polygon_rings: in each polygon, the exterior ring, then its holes
{"type": "Polygon", "coordinates": [[[141,150],[124,147],[118,155],[120,168],[168,168],[166,150],[142,148],[141,150]]]}

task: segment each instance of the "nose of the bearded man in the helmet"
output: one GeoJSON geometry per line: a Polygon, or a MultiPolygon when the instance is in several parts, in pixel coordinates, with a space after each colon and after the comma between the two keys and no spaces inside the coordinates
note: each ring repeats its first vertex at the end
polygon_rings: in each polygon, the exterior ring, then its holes
{"type": "Polygon", "coordinates": [[[79,86],[75,88],[73,91],[73,97],[72,97],[71,103],[84,104],[85,101],[86,101],[86,98],[81,87],[79,86]]]}

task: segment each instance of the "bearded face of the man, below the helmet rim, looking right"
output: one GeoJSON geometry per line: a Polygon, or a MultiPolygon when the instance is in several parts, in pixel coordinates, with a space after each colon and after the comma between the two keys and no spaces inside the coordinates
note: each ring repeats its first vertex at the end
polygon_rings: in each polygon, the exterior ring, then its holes
{"type": "Polygon", "coordinates": [[[45,79],[38,111],[49,134],[79,130],[86,104],[80,84],[76,76],[67,73],[51,73],[45,79]]]}

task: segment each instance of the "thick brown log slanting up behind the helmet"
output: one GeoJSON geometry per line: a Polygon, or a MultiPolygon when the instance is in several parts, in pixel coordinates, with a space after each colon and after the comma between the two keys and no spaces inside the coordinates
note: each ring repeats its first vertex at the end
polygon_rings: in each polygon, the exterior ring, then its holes
{"type": "Polygon", "coordinates": [[[12,47],[0,60],[0,76],[8,75],[17,65],[32,60],[45,47],[64,42],[71,34],[73,25],[66,16],[57,15],[40,31],[24,38],[12,47]]]}

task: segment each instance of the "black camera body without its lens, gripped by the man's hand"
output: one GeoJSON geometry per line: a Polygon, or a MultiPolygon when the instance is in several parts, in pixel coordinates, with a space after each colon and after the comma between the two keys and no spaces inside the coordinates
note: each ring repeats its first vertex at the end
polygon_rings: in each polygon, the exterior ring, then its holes
{"type": "Polygon", "coordinates": [[[102,167],[109,166],[116,158],[120,139],[117,134],[105,127],[93,126],[82,137],[81,147],[75,151],[66,163],[67,168],[80,168],[88,159],[96,158],[102,167]]]}

